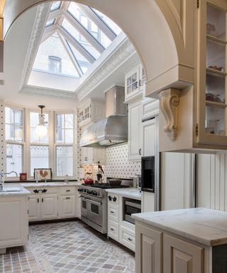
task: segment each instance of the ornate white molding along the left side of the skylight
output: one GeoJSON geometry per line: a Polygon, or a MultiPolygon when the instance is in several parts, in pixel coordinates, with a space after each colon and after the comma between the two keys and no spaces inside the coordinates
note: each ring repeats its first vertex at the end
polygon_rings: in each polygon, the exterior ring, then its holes
{"type": "Polygon", "coordinates": [[[28,83],[28,79],[33,68],[33,63],[38,51],[38,47],[43,36],[43,31],[45,29],[45,23],[48,19],[50,6],[51,2],[48,4],[41,4],[38,6],[30,43],[28,45],[26,60],[23,65],[23,72],[21,76],[21,84],[19,86],[19,90],[23,89],[23,87],[26,86],[28,83]]]}

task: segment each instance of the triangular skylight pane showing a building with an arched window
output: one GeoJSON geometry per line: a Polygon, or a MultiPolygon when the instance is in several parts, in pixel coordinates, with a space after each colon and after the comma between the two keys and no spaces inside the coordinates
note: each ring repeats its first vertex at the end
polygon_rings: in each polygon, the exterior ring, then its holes
{"type": "Polygon", "coordinates": [[[62,44],[62,41],[60,41],[59,36],[57,36],[57,33],[52,34],[50,38],[40,44],[33,65],[33,70],[45,71],[57,75],[79,77],[72,60],[70,60],[70,57],[62,44]],[[57,62],[57,60],[60,62],[59,70],[52,69],[54,64],[50,63],[50,61],[53,60],[53,58],[55,59],[55,62],[57,62]]]}

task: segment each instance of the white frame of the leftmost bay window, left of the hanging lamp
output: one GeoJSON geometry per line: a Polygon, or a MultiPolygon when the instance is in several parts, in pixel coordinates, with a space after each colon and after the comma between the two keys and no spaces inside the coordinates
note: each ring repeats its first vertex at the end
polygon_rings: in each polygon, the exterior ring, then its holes
{"type": "MultiPolygon", "coordinates": [[[[20,145],[21,146],[21,152],[22,152],[22,156],[21,156],[21,161],[22,161],[22,166],[21,166],[21,171],[25,171],[25,165],[24,163],[26,162],[26,141],[25,141],[25,127],[26,127],[26,119],[25,119],[25,109],[23,107],[20,107],[18,105],[8,105],[5,104],[4,105],[4,126],[5,126],[5,130],[6,130],[6,107],[11,108],[11,109],[17,109],[22,111],[22,141],[15,141],[15,140],[10,140],[10,139],[6,139],[6,134],[4,134],[4,141],[5,141],[5,154],[6,154],[6,147],[7,144],[14,144],[14,145],[20,145]]],[[[8,123],[7,123],[8,124],[8,123]]],[[[14,130],[14,125],[13,125],[13,130],[14,130]]],[[[6,166],[6,170],[5,172],[7,172],[7,161],[6,161],[7,157],[5,157],[5,162],[4,165],[6,166]]],[[[16,178],[20,177],[20,173],[17,173],[17,176],[15,176],[16,178]]],[[[12,180],[11,176],[5,176],[5,180],[12,180]]]]}

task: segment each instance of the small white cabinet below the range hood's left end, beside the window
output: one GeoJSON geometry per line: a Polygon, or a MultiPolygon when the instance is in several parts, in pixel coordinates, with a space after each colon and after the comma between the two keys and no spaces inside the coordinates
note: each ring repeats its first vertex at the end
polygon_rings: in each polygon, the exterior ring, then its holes
{"type": "Polygon", "coordinates": [[[90,148],[82,147],[82,158],[81,163],[84,165],[101,164],[106,163],[106,149],[105,148],[90,148]]]}

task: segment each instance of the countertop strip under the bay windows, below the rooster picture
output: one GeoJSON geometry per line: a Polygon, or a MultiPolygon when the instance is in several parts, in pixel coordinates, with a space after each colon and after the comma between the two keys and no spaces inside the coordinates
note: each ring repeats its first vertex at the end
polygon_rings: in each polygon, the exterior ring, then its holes
{"type": "MultiPolygon", "coordinates": [[[[5,184],[6,185],[6,184],[5,184]]],[[[26,182],[26,183],[7,183],[7,186],[22,186],[22,187],[25,187],[25,188],[38,188],[38,187],[62,187],[62,186],[80,186],[81,183],[79,182],[68,182],[68,183],[65,183],[65,182],[39,182],[39,183],[35,183],[35,182],[32,182],[32,183],[29,183],[29,182],[26,182]]]]}

